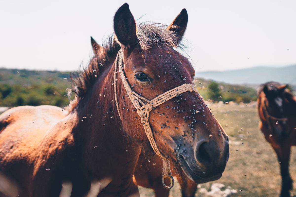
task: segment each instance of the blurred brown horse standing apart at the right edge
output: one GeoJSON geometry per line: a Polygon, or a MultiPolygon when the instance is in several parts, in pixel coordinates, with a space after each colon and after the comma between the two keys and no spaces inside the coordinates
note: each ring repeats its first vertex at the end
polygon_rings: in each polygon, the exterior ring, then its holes
{"type": "Polygon", "coordinates": [[[257,89],[260,128],[276,152],[281,167],[281,197],[290,196],[292,179],[289,174],[291,146],[296,145],[296,97],[287,85],[268,82],[257,89]]]}

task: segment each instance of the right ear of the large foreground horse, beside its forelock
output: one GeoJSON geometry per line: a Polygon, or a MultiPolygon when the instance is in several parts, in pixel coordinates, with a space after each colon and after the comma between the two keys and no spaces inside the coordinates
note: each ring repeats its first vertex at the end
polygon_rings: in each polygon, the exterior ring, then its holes
{"type": "MultiPolygon", "coordinates": [[[[188,14],[186,9],[182,9],[180,14],[175,18],[175,20],[168,26],[168,30],[173,31],[177,38],[178,38],[178,43],[181,41],[184,32],[186,30],[188,23],[188,14]]],[[[178,45],[178,43],[175,43],[178,45]]]]}

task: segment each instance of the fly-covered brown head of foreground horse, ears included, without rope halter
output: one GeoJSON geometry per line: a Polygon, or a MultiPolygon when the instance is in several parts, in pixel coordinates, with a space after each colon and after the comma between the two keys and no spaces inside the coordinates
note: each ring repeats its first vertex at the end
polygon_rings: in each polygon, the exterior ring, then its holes
{"type": "MultiPolygon", "coordinates": [[[[183,9],[168,27],[150,23],[137,26],[128,4],[118,9],[114,17],[115,39],[123,52],[124,73],[134,92],[152,100],[182,84],[193,84],[192,65],[176,51],[187,22],[183,9]]],[[[117,79],[120,83],[119,76],[117,79]]],[[[123,128],[128,135],[149,145],[124,88],[121,96],[123,128]]],[[[221,177],[229,157],[228,136],[198,93],[183,92],[154,107],[149,124],[158,149],[173,160],[179,173],[184,172],[196,183],[221,177]]]]}

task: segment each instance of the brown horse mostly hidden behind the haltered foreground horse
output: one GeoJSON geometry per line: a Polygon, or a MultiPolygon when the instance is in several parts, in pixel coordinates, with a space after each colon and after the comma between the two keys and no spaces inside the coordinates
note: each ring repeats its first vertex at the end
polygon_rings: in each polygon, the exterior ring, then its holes
{"type": "MultiPolygon", "coordinates": [[[[104,51],[94,38],[91,37],[91,46],[96,56],[101,55],[104,51]]],[[[146,154],[143,150],[139,156],[138,163],[134,171],[134,183],[145,188],[152,188],[156,197],[168,197],[169,190],[162,185],[162,160],[157,155],[146,154]],[[151,157],[151,159],[147,158],[151,157]]],[[[181,193],[183,197],[194,197],[197,191],[197,183],[190,180],[186,176],[181,177],[171,163],[171,172],[173,177],[177,177],[181,185],[181,193]]],[[[166,184],[168,180],[165,180],[166,184]]]]}

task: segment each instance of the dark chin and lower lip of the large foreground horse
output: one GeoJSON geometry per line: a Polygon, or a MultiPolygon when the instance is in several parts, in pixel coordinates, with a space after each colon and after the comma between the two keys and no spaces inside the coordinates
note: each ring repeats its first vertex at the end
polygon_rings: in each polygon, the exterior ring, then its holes
{"type": "Polygon", "coordinates": [[[183,172],[187,175],[188,178],[193,180],[195,183],[207,183],[209,181],[218,180],[222,176],[222,174],[214,175],[211,177],[202,177],[201,175],[197,175],[191,170],[191,168],[189,167],[182,155],[179,155],[179,163],[181,164],[183,172]]]}

